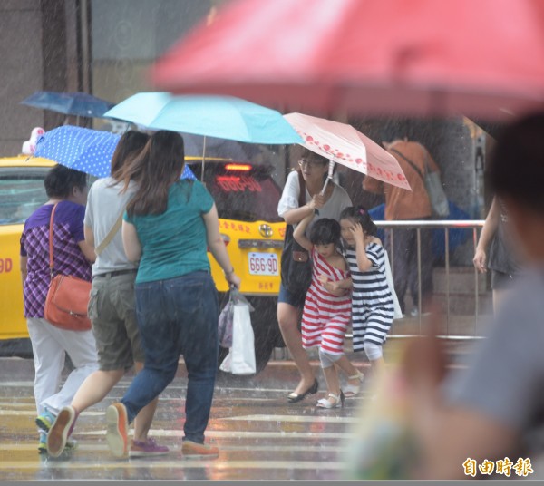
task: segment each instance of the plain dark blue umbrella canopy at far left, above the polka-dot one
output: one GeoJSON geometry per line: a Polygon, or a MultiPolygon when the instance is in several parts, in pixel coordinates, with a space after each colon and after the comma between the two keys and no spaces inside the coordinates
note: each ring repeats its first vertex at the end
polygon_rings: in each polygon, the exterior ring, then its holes
{"type": "Polygon", "coordinates": [[[91,118],[101,118],[114,106],[114,103],[86,92],[34,92],[21,103],[42,110],[91,118]]]}

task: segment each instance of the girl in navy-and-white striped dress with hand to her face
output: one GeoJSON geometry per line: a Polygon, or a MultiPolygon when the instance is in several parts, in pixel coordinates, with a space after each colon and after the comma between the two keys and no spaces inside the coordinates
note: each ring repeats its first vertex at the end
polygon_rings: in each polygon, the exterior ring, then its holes
{"type": "Polygon", "coordinates": [[[382,346],[393,324],[393,290],[387,282],[387,253],[375,237],[376,226],[363,206],[340,215],[345,259],[352,277],[353,349],[366,353],[372,371],[384,366],[382,346]]]}

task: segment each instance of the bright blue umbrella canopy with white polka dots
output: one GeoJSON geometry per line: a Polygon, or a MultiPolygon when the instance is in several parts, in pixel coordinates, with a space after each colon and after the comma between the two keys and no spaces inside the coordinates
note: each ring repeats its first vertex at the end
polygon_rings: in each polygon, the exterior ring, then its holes
{"type": "MultiPolygon", "coordinates": [[[[38,139],[34,156],[96,177],[107,177],[111,173],[113,152],[120,140],[120,135],[109,131],[63,125],[46,131],[38,139]]],[[[187,165],[181,178],[196,179],[187,165]]]]}

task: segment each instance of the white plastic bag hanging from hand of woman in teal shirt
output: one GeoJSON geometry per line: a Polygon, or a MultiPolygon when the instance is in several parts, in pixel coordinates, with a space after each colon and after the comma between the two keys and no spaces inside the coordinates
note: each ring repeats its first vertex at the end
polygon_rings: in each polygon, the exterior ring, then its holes
{"type": "Polygon", "coordinates": [[[255,336],[249,315],[250,310],[253,309],[243,300],[234,304],[232,347],[228,350],[228,355],[219,369],[232,374],[255,374],[257,372],[255,336]]]}

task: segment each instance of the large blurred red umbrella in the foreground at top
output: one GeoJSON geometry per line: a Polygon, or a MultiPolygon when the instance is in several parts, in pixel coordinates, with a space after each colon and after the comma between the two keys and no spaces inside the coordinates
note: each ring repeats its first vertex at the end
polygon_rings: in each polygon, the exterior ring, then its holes
{"type": "Polygon", "coordinates": [[[544,101],[544,2],[238,0],[152,80],[305,112],[500,120],[544,101]]]}

